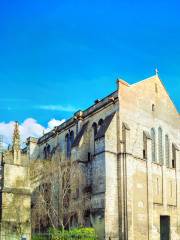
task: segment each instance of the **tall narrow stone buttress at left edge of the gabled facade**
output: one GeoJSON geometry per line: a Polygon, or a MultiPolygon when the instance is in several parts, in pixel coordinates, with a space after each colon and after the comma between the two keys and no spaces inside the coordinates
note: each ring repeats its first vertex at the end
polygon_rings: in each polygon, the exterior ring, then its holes
{"type": "Polygon", "coordinates": [[[122,240],[133,239],[133,169],[130,148],[130,128],[121,124],[122,140],[119,163],[119,201],[120,201],[120,232],[122,240]]]}

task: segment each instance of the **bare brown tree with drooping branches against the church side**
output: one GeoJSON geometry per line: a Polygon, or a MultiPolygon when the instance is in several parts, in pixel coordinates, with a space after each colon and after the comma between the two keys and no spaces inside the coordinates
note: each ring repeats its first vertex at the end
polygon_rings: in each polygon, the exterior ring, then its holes
{"type": "Polygon", "coordinates": [[[51,160],[34,161],[31,172],[38,186],[32,200],[33,229],[60,227],[63,230],[77,221],[84,225],[84,213],[90,208],[90,201],[89,194],[84,192],[86,176],[81,164],[69,159],[61,161],[57,153],[51,160]]]}

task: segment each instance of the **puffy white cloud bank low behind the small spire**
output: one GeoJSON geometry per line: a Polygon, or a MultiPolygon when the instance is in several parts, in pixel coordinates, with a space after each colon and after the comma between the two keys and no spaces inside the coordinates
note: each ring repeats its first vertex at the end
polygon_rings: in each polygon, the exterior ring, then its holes
{"type": "MultiPolygon", "coordinates": [[[[40,137],[43,132],[48,132],[52,130],[55,126],[61,125],[65,120],[56,120],[51,119],[47,128],[39,124],[33,118],[27,118],[19,125],[20,134],[21,134],[21,143],[25,143],[28,137],[40,137]]],[[[3,136],[3,146],[7,147],[12,143],[12,135],[14,130],[14,122],[0,122],[0,135],[3,136]]]]}

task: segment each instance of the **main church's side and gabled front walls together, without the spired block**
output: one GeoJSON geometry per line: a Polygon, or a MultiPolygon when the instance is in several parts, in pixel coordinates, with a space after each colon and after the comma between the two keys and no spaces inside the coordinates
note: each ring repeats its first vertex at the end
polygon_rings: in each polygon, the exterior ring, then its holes
{"type": "Polygon", "coordinates": [[[160,216],[170,216],[171,239],[180,239],[178,149],[176,168],[171,148],[169,166],[165,159],[165,135],[169,136],[170,146],[180,143],[179,113],[158,76],[133,85],[119,80],[118,92],[112,96],[81,112],[79,119],[75,114],[53,133],[33,143],[30,159],[43,159],[43,150],[49,144],[51,149],[58,146],[60,161],[82,164],[86,184],[92,189],[91,223],[100,239],[160,239],[160,216]],[[118,99],[112,98],[116,94],[118,99]],[[104,136],[94,139],[93,123],[98,124],[112,113],[115,114],[104,136]],[[67,159],[66,135],[74,131],[76,138],[85,123],[87,129],[67,159]],[[163,164],[157,147],[159,127],[163,164]],[[156,132],[157,162],[152,162],[151,128],[156,132]]]}

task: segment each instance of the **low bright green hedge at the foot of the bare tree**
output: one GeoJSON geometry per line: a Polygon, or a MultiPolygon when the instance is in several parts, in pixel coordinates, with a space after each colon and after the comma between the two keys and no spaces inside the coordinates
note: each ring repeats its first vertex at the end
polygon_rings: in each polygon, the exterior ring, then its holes
{"type": "Polygon", "coordinates": [[[52,240],[96,240],[97,236],[93,228],[74,228],[69,231],[67,230],[58,230],[51,229],[50,234],[52,240]]]}

